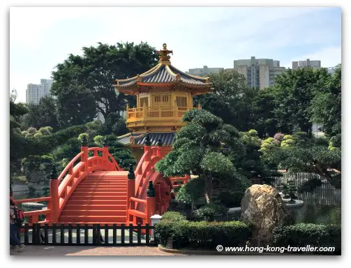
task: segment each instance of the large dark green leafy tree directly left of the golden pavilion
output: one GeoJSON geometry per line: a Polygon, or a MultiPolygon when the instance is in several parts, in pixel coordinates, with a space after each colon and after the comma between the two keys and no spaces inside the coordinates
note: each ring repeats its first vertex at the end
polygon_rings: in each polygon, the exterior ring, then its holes
{"type": "Polygon", "coordinates": [[[126,101],[135,105],[135,96],[114,92],[113,81],[144,73],[157,63],[156,59],[156,50],[147,43],[98,43],[82,47],[82,55],[70,54],[52,72],[51,91],[57,97],[61,126],[85,124],[96,112],[107,119],[111,113],[124,111],[126,101]]]}

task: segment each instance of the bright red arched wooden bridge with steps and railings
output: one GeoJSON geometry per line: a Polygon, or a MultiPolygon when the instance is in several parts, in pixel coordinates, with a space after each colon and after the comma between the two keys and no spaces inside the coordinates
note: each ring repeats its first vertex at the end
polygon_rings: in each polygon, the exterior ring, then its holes
{"type": "Polygon", "coordinates": [[[129,171],[122,170],[108,147],[82,146],[58,177],[53,172],[49,197],[14,201],[47,201],[47,209],[24,212],[29,224],[150,224],[152,215],[167,211],[174,181],[185,183],[190,178],[168,178],[156,172],[155,164],[167,154],[158,145],[144,146],[135,171],[133,165],[129,171]],[[44,221],[38,220],[40,215],[45,215],[44,221]]]}

